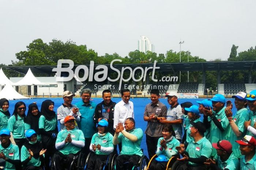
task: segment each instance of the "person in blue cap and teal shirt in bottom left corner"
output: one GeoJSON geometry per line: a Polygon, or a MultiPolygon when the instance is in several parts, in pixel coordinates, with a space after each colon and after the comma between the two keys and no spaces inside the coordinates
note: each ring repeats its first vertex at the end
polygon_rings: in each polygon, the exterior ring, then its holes
{"type": "Polygon", "coordinates": [[[15,166],[20,165],[19,148],[11,143],[10,134],[8,129],[0,131],[0,158],[6,160],[5,170],[15,170],[15,166]]]}

